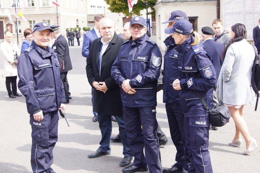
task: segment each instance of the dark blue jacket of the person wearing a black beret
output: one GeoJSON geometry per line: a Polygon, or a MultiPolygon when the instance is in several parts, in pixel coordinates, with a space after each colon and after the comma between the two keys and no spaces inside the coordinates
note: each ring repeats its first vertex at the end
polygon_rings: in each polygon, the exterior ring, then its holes
{"type": "Polygon", "coordinates": [[[215,67],[215,86],[217,86],[218,82],[218,75],[220,73],[221,66],[223,64],[223,61],[221,59],[222,56],[222,50],[224,49],[224,45],[221,43],[215,42],[213,39],[208,39],[204,43],[202,43],[206,52],[211,56],[213,59],[213,65],[215,67]]]}

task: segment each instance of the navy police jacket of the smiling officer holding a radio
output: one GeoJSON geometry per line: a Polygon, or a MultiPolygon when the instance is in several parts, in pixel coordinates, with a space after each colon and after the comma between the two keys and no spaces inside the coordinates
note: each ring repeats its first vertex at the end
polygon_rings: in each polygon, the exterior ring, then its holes
{"type": "Polygon", "coordinates": [[[66,102],[60,79],[60,64],[54,50],[34,41],[21,53],[17,65],[18,88],[26,98],[29,114],[51,112],[66,102]]]}

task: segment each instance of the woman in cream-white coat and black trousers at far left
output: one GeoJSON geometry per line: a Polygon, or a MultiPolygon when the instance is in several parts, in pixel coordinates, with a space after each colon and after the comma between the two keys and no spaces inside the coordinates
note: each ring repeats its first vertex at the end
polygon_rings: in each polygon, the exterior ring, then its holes
{"type": "Polygon", "coordinates": [[[5,41],[1,43],[1,54],[4,57],[5,70],[5,85],[10,98],[15,96],[22,96],[17,93],[16,79],[17,79],[17,57],[20,55],[20,50],[16,42],[12,41],[13,34],[6,32],[5,41]],[[16,60],[15,60],[16,59],[16,60]],[[11,90],[12,85],[12,90],[11,90]]]}

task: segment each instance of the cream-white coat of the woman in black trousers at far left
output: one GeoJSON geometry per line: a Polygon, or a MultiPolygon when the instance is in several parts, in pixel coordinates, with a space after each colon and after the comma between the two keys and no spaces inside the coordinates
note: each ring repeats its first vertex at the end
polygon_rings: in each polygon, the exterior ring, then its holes
{"type": "Polygon", "coordinates": [[[4,41],[1,43],[1,55],[4,58],[4,70],[5,76],[17,76],[17,64],[13,63],[14,55],[20,56],[21,51],[19,50],[16,42],[11,43],[4,41]]]}

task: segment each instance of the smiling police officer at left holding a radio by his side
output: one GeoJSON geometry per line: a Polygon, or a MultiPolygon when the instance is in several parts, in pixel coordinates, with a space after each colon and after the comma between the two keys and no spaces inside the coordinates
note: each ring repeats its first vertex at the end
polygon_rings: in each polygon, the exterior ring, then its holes
{"type": "Polygon", "coordinates": [[[57,54],[48,45],[53,30],[44,22],[33,28],[33,41],[18,60],[18,88],[26,98],[32,128],[33,172],[54,173],[52,150],[58,140],[58,111],[65,110],[57,54]]]}

